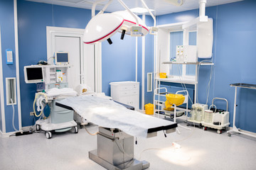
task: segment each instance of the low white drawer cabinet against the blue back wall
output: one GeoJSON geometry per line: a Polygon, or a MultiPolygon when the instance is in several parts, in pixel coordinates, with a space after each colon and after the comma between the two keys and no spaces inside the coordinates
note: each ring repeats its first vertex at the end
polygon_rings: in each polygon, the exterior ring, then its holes
{"type": "Polygon", "coordinates": [[[139,82],[119,81],[110,83],[111,97],[114,101],[133,106],[139,110],[139,82]]]}

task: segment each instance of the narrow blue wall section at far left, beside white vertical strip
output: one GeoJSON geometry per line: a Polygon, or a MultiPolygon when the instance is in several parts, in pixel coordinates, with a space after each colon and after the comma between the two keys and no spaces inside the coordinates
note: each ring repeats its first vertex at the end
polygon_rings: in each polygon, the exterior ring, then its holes
{"type": "MultiPolygon", "coordinates": [[[[12,127],[12,106],[6,106],[6,77],[16,77],[16,55],[15,55],[15,36],[14,36],[14,1],[1,0],[0,1],[0,26],[1,26],[1,55],[3,63],[3,84],[4,84],[4,111],[6,121],[6,132],[14,131],[12,127]],[[14,64],[6,64],[6,49],[13,50],[14,64]]],[[[2,101],[1,101],[2,102],[2,101]]],[[[18,108],[17,104],[15,109],[15,122],[14,125],[18,129],[18,108]]],[[[2,120],[1,120],[2,131],[2,120]]]]}

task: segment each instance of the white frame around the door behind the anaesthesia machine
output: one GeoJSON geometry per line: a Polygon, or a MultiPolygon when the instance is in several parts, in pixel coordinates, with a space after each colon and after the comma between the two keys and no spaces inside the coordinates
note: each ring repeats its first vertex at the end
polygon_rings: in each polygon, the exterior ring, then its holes
{"type": "MultiPolygon", "coordinates": [[[[47,40],[47,59],[50,59],[53,54],[53,44],[55,44],[54,36],[70,36],[83,38],[85,30],[79,28],[63,28],[63,27],[50,27],[46,26],[46,40],[47,40]]],[[[80,42],[80,54],[84,55],[83,42],[80,42]]],[[[102,92],[102,55],[101,45],[94,45],[94,58],[95,58],[95,92],[102,92]]],[[[81,56],[81,75],[84,74],[85,68],[84,57],[81,56]]]]}

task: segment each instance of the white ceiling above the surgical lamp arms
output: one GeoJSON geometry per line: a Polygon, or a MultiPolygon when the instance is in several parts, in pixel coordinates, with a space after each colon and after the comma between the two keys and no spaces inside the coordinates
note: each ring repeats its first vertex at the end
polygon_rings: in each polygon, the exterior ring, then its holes
{"type": "MultiPolygon", "coordinates": [[[[26,0],[26,1],[36,1],[46,4],[55,4],[55,5],[61,5],[61,6],[72,6],[77,8],[87,8],[91,9],[92,4],[96,0],[26,0]]],[[[135,7],[144,7],[140,0],[123,0],[124,3],[129,8],[135,8],[135,7]]],[[[156,16],[161,16],[167,13],[176,13],[181,11],[188,11],[191,9],[199,8],[198,0],[183,0],[182,6],[174,6],[168,1],[170,0],[144,0],[146,5],[149,6],[150,9],[154,9],[153,12],[156,16]]],[[[242,1],[242,0],[207,0],[206,6],[217,6],[220,4],[228,4],[235,1],[242,1]]],[[[107,0],[103,1],[102,3],[98,4],[96,7],[96,10],[101,10],[102,7],[107,4],[107,0]]],[[[107,10],[108,12],[114,12],[114,11],[122,11],[124,10],[124,7],[119,4],[117,0],[113,0],[112,4],[108,6],[107,10]]]]}

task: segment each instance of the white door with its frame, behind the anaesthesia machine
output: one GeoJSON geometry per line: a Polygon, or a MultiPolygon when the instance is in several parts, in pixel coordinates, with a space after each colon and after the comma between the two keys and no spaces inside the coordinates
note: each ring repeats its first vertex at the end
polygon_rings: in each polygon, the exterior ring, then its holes
{"type": "Polygon", "coordinates": [[[84,30],[75,28],[47,27],[48,59],[54,52],[68,52],[71,65],[68,86],[75,89],[79,84],[87,84],[95,91],[94,45],[82,42],[83,32],[84,30]]]}

